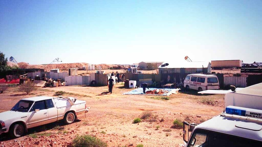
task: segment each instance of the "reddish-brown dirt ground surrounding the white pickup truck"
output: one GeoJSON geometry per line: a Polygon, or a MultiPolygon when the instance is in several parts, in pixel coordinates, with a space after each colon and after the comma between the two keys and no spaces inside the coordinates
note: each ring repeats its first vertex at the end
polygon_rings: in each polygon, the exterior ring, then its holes
{"type": "Polygon", "coordinates": [[[130,90],[123,88],[123,83],[117,83],[112,94],[108,93],[107,86],[38,88],[29,95],[19,92],[17,87],[9,88],[0,94],[0,112],[10,110],[22,98],[54,96],[57,91],[67,92],[63,96],[85,100],[91,109],[86,116],[79,115],[70,125],[62,122],[43,125],[29,129],[25,136],[18,139],[2,135],[0,146],[70,147],[76,135],[89,134],[106,142],[109,147],[137,144],[145,147],[174,147],[183,143],[182,129],[173,127],[175,119],[200,123],[223,111],[224,95],[198,95],[196,91],[180,91],[168,96],[169,100],[156,95],[122,95],[130,90]],[[147,111],[152,112],[150,118],[133,123],[135,118],[140,118],[147,111]]]}

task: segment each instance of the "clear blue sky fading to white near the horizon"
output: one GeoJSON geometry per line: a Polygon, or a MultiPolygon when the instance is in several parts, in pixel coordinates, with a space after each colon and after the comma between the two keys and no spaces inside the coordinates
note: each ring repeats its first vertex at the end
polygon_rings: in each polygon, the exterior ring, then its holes
{"type": "Polygon", "coordinates": [[[17,62],[262,62],[261,0],[0,0],[0,52],[17,62]]]}

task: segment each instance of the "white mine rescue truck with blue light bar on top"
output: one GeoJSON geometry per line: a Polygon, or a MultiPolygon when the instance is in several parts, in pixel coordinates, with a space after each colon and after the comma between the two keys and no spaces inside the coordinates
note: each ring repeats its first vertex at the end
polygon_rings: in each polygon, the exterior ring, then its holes
{"type": "Polygon", "coordinates": [[[262,83],[227,93],[225,112],[199,125],[184,122],[183,128],[187,144],[181,146],[262,146],[262,83]]]}

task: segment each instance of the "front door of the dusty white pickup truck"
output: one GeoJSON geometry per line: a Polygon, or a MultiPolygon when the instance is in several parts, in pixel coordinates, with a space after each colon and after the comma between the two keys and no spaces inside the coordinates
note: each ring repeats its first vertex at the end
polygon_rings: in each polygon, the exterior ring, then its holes
{"type": "Polygon", "coordinates": [[[33,104],[28,114],[28,128],[48,123],[48,110],[45,100],[33,104]]]}

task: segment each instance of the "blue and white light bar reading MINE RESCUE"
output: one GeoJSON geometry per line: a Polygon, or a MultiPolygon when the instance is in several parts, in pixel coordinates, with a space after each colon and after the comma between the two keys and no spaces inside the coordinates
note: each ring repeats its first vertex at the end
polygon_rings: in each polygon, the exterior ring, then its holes
{"type": "Polygon", "coordinates": [[[227,106],[226,113],[262,119],[262,110],[258,110],[258,109],[250,109],[250,108],[237,107],[237,106],[227,106]]]}

